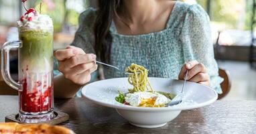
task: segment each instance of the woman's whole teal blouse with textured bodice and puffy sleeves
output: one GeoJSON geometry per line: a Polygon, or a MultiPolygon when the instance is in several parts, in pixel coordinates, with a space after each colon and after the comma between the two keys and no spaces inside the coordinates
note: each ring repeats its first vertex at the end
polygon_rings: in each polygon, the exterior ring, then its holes
{"type": "MultiPolygon", "coordinates": [[[[86,53],[94,52],[93,25],[97,11],[88,8],[79,17],[73,46],[86,53]]],[[[104,23],[104,22],[103,22],[104,23]]],[[[117,33],[114,23],[110,27],[113,43],[110,64],[125,70],[132,63],[145,66],[149,77],[178,79],[185,62],[198,60],[208,69],[210,86],[221,93],[218,66],[214,60],[210,19],[200,5],[176,2],[166,28],[150,34],[128,36],[117,33]]],[[[104,68],[105,78],[124,77],[113,68],[104,68]]]]}

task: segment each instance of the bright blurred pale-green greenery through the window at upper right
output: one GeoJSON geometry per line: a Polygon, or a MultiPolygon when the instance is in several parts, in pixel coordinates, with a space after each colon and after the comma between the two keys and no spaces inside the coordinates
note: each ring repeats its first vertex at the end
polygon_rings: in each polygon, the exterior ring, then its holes
{"type": "MultiPolygon", "coordinates": [[[[180,0],[193,1],[193,0],[180,0]]],[[[205,10],[210,1],[210,17],[214,23],[225,24],[226,29],[251,29],[253,0],[196,0],[205,10]]]]}

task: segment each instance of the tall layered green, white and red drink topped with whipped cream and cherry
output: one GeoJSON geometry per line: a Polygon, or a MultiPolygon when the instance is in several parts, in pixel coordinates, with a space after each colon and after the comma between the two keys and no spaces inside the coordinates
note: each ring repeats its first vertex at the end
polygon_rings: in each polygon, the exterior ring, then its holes
{"type": "Polygon", "coordinates": [[[52,19],[48,15],[40,15],[34,9],[29,9],[17,23],[21,41],[19,120],[48,121],[52,118],[54,107],[52,19]]]}

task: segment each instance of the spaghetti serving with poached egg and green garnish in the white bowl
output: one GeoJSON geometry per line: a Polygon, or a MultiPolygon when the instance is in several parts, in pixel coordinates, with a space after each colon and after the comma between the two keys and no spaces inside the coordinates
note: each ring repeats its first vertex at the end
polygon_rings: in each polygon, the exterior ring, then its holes
{"type": "Polygon", "coordinates": [[[123,94],[115,96],[117,102],[136,107],[165,107],[172,99],[171,93],[153,91],[147,78],[147,69],[137,64],[131,64],[125,69],[128,74],[128,82],[133,88],[123,94]]]}

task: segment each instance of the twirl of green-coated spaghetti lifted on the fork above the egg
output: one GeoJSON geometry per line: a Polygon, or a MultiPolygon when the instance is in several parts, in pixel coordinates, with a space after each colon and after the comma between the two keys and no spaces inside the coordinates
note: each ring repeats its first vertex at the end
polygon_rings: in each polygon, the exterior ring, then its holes
{"type": "Polygon", "coordinates": [[[153,92],[153,89],[147,79],[147,69],[143,66],[139,66],[137,64],[131,64],[125,69],[126,72],[130,72],[133,74],[129,74],[128,82],[133,85],[132,89],[129,89],[129,92],[143,92],[150,91],[153,92]]]}

